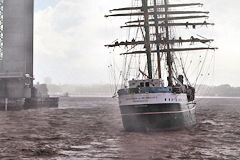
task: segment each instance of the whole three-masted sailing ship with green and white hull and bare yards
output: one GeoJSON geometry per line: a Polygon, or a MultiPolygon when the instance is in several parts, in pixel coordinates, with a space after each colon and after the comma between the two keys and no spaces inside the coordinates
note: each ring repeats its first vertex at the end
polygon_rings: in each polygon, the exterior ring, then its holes
{"type": "Polygon", "coordinates": [[[172,130],[192,126],[196,124],[196,89],[189,80],[183,58],[179,60],[177,57],[186,52],[217,48],[211,47],[213,39],[203,36],[176,38],[180,32],[174,33],[174,30],[182,27],[188,31],[214,25],[207,22],[209,12],[189,10],[189,7],[202,6],[201,3],[172,3],[170,0],[135,2],[134,6],[113,9],[110,10],[111,14],[105,15],[131,17],[121,28],[135,28],[136,31],[136,37],[131,40],[116,40],[105,45],[124,47],[127,51],[121,55],[130,56],[130,64],[133,58],[138,59],[136,76],[130,79],[127,71],[123,75],[122,88],[117,92],[123,126],[127,131],[172,130]],[[177,60],[180,65],[176,65],[177,60]]]}

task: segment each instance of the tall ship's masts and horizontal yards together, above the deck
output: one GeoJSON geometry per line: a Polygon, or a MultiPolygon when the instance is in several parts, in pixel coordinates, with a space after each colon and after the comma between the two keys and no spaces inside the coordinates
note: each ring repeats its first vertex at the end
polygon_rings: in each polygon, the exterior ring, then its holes
{"type": "MultiPolygon", "coordinates": [[[[191,38],[184,39],[179,37],[178,39],[170,37],[171,27],[186,27],[186,29],[196,29],[198,26],[209,26],[214,25],[214,23],[209,23],[206,21],[208,18],[208,11],[196,11],[196,10],[176,10],[175,8],[188,7],[188,6],[202,6],[201,3],[185,3],[185,4],[169,4],[169,0],[163,0],[161,4],[158,4],[158,0],[151,0],[153,5],[149,5],[149,0],[141,0],[142,5],[137,7],[125,7],[111,10],[111,14],[105,15],[105,17],[141,17],[139,19],[133,19],[125,23],[121,28],[140,28],[144,29],[145,34],[143,35],[143,40],[133,39],[132,41],[115,41],[113,44],[105,45],[106,47],[121,47],[121,46],[131,46],[131,49],[126,53],[121,53],[120,55],[135,55],[143,54],[147,56],[147,71],[141,74],[149,79],[153,79],[153,70],[157,69],[158,78],[162,79],[162,71],[165,68],[161,67],[161,54],[166,55],[167,62],[167,72],[168,72],[168,86],[173,87],[176,77],[174,77],[173,69],[173,53],[181,54],[180,52],[187,51],[200,51],[200,50],[215,50],[216,47],[212,47],[208,43],[212,42],[213,39],[206,39],[203,37],[196,38],[191,36],[191,38]],[[174,8],[174,9],[171,9],[174,8]],[[131,11],[128,13],[128,11],[131,11]],[[117,13],[112,13],[117,12],[117,13]],[[120,13],[119,13],[120,12],[120,13]],[[143,18],[142,18],[143,17],[143,18]],[[204,19],[201,22],[184,22],[183,20],[192,19],[204,19]],[[164,34],[161,34],[160,27],[164,29],[164,34]],[[154,28],[154,32],[150,34],[150,29],[154,28]],[[153,38],[151,38],[152,36],[153,38]],[[201,44],[198,47],[182,47],[183,43],[194,43],[201,44]],[[206,44],[207,43],[207,44],[206,44]],[[178,46],[171,46],[174,44],[179,44],[178,46]],[[138,50],[135,46],[143,45],[144,50],[138,50]],[[207,45],[207,46],[206,46],[207,45]],[[151,48],[156,46],[156,48],[151,48]],[[152,54],[157,55],[157,67],[152,65],[152,54]]],[[[185,45],[184,45],[185,46],[185,45]]],[[[185,74],[186,75],[186,74],[185,74]]],[[[187,77],[186,77],[187,79],[187,77]]]]}

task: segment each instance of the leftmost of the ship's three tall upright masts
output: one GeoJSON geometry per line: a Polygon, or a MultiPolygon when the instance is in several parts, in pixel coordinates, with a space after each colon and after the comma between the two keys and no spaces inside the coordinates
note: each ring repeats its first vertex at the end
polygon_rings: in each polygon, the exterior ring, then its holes
{"type": "Polygon", "coordinates": [[[147,54],[148,78],[152,79],[152,59],[150,46],[150,31],[149,31],[149,14],[148,14],[148,0],[142,0],[142,9],[144,14],[144,29],[145,29],[145,48],[147,54]]]}

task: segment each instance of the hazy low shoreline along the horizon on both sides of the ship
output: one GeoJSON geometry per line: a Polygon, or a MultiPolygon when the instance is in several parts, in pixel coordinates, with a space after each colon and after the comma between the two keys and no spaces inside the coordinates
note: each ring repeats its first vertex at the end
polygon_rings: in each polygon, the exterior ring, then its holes
{"type": "MultiPolygon", "coordinates": [[[[50,95],[64,96],[70,95],[72,97],[112,97],[114,88],[111,85],[54,85],[48,84],[48,91],[50,95]]],[[[197,98],[240,98],[240,87],[231,87],[230,85],[207,86],[199,85],[200,88],[196,96],[197,98]],[[203,96],[204,95],[204,96],[203,96]]]]}

